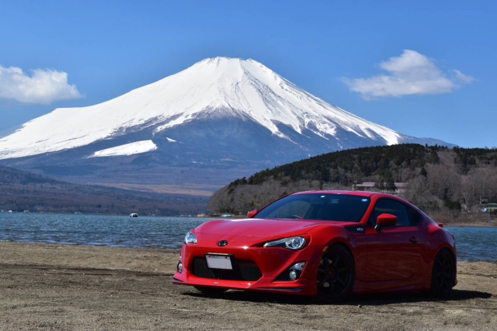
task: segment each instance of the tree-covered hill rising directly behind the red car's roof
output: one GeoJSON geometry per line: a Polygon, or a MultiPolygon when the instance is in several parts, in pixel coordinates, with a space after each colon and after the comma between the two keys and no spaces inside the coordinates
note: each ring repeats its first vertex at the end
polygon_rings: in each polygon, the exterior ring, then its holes
{"type": "Polygon", "coordinates": [[[409,183],[398,194],[425,210],[470,210],[481,200],[497,201],[497,149],[400,144],[322,154],[237,179],[209,207],[246,213],[288,193],[352,190],[363,182],[377,183],[371,191],[409,183]]]}

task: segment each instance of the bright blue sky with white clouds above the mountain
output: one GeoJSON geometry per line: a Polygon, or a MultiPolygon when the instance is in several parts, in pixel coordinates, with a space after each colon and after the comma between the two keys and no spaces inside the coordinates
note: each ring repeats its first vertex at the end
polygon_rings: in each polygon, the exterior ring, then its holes
{"type": "Polygon", "coordinates": [[[497,146],[494,2],[304,2],[3,1],[0,131],[226,56],[401,133],[497,146]]]}

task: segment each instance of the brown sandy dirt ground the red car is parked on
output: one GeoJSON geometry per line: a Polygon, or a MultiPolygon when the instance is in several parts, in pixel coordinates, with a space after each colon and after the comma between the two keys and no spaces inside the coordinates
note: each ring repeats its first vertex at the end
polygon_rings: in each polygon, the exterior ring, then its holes
{"type": "Polygon", "coordinates": [[[447,300],[355,295],[324,305],[173,285],[178,253],[0,242],[0,329],[497,330],[497,264],[458,263],[447,300]]]}

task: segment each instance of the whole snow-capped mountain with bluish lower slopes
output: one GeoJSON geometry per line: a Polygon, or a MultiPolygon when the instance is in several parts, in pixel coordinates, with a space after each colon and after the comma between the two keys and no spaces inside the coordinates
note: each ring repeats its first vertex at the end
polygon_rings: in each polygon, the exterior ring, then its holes
{"type": "Polygon", "coordinates": [[[451,146],[362,119],[254,60],[217,57],[109,101],[33,119],[0,138],[0,163],[78,182],[215,189],[309,156],[399,143],[451,146]]]}

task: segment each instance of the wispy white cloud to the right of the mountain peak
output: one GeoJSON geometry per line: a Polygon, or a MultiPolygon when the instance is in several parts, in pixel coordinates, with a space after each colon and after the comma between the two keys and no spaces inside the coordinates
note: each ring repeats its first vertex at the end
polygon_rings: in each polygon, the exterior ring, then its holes
{"type": "Polygon", "coordinates": [[[380,67],[389,73],[369,78],[342,78],[342,81],[351,91],[370,100],[410,94],[449,93],[461,84],[475,80],[455,69],[447,75],[431,59],[412,50],[404,50],[401,56],[380,63],[380,67]]]}

